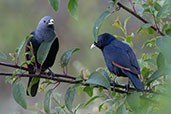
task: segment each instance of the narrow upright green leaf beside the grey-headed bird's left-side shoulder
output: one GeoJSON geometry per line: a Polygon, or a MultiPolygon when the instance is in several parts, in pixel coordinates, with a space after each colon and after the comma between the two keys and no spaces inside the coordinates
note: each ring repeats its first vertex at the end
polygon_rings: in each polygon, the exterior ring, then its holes
{"type": "Polygon", "coordinates": [[[16,48],[15,52],[16,52],[16,58],[19,57],[20,53],[21,53],[21,50],[23,49],[24,45],[26,44],[27,40],[29,38],[33,37],[32,34],[28,35],[22,42],[21,44],[16,48]]]}

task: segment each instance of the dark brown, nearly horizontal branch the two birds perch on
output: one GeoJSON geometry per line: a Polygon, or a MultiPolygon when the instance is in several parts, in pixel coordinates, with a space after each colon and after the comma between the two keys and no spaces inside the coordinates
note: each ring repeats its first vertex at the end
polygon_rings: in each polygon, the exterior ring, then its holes
{"type": "MultiPolygon", "coordinates": [[[[6,67],[11,67],[11,68],[15,68],[15,69],[21,69],[21,70],[25,70],[28,71],[27,68],[25,67],[21,67],[19,65],[16,64],[10,64],[10,63],[4,63],[4,62],[0,62],[1,66],[6,66],[6,67]]],[[[0,72],[1,76],[13,76],[12,72],[0,72]]],[[[50,79],[53,81],[57,81],[57,82],[64,82],[64,83],[70,83],[70,84],[82,84],[84,86],[90,86],[90,84],[86,84],[84,83],[87,79],[84,80],[76,80],[75,76],[72,75],[65,75],[65,74],[57,74],[57,73],[53,73],[53,76],[48,74],[47,72],[41,72],[40,75],[36,75],[36,74],[15,74],[16,76],[19,77],[39,77],[39,78],[43,78],[43,79],[50,79]]],[[[113,84],[110,84],[113,87],[113,84]]],[[[98,87],[98,86],[97,86],[98,87]]],[[[124,85],[120,85],[120,84],[115,84],[116,88],[121,88],[121,89],[126,89],[126,87],[124,85]]],[[[112,91],[118,92],[118,93],[127,93],[126,91],[120,90],[120,89],[116,89],[116,88],[112,88],[112,91]]],[[[106,88],[104,88],[106,89],[106,88]]],[[[133,90],[136,91],[135,88],[130,87],[129,90],[133,90]]],[[[146,92],[150,92],[150,93],[155,93],[153,91],[150,90],[145,90],[146,92]]],[[[157,93],[158,94],[158,93],[157,93]]]]}

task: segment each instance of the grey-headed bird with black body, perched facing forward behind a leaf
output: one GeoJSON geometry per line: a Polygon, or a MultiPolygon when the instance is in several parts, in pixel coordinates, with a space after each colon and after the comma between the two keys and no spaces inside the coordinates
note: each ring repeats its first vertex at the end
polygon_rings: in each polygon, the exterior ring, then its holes
{"type": "MultiPolygon", "coordinates": [[[[29,74],[36,74],[36,72],[45,71],[53,66],[55,62],[55,58],[57,55],[57,52],[59,50],[59,41],[58,37],[55,34],[55,27],[54,27],[54,19],[50,16],[44,16],[38,23],[37,28],[35,31],[30,33],[31,37],[27,40],[26,46],[25,46],[25,53],[26,53],[26,61],[30,61],[32,57],[34,57],[34,62],[27,64],[27,67],[29,69],[29,74]],[[55,39],[54,39],[55,38],[55,39]],[[37,60],[37,52],[39,49],[39,46],[43,42],[50,42],[53,41],[49,53],[44,61],[44,63],[41,65],[38,63],[37,60]]],[[[51,71],[49,69],[49,71],[51,71]]],[[[36,96],[37,90],[39,87],[39,81],[40,79],[31,84],[31,81],[34,78],[30,77],[27,85],[26,93],[28,96],[36,96]],[[29,86],[31,85],[31,89],[29,92],[29,86]]]]}

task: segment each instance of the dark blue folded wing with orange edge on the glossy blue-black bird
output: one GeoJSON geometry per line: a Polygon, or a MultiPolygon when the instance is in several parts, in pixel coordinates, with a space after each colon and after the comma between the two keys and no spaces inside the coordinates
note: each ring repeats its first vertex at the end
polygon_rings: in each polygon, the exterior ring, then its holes
{"type": "Polygon", "coordinates": [[[136,56],[129,45],[121,41],[115,41],[105,47],[104,51],[107,53],[107,58],[110,59],[113,65],[135,74],[140,73],[136,56]]]}

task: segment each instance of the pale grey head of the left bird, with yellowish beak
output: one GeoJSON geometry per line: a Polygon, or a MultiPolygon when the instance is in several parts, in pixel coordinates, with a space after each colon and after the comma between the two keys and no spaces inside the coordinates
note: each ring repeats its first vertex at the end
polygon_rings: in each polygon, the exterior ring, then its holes
{"type": "Polygon", "coordinates": [[[54,30],[54,20],[50,16],[44,16],[37,26],[37,29],[53,29],[54,30]]]}

